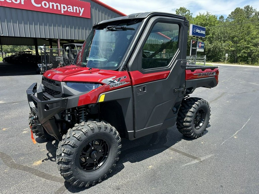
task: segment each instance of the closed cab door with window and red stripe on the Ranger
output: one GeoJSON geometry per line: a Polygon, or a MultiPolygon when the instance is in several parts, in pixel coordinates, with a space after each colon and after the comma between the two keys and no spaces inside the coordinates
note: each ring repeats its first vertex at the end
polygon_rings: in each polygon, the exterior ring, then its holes
{"type": "Polygon", "coordinates": [[[187,30],[183,20],[151,18],[129,60],[135,138],[176,122],[185,90],[187,30]]]}

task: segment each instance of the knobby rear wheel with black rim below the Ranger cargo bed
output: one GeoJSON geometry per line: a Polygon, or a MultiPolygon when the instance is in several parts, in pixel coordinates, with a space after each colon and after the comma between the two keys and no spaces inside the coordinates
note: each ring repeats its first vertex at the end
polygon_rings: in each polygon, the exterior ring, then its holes
{"type": "Polygon", "coordinates": [[[187,98],[182,101],[176,126],[185,136],[200,137],[210,120],[210,105],[201,98],[187,98]]]}

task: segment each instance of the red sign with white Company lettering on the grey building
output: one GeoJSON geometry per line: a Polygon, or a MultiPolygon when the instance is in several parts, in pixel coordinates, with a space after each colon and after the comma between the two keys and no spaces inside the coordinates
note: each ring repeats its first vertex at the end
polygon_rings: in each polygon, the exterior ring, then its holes
{"type": "Polygon", "coordinates": [[[0,6],[91,18],[91,4],[78,0],[0,0],[0,6]]]}

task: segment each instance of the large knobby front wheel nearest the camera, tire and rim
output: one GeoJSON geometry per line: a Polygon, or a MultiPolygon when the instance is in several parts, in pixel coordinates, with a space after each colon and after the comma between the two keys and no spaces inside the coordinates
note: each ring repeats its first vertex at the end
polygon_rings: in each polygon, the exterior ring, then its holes
{"type": "Polygon", "coordinates": [[[121,138],[111,124],[88,121],[69,129],[58,144],[56,162],[65,180],[78,187],[100,183],[116,166],[121,138]]]}

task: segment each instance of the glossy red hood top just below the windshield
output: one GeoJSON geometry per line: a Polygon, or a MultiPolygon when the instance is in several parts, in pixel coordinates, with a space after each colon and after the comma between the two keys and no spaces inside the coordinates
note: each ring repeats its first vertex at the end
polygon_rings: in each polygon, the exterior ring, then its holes
{"type": "Polygon", "coordinates": [[[100,71],[95,68],[79,67],[76,65],[65,66],[61,68],[51,69],[46,71],[43,76],[52,80],[62,82],[67,76],[76,74],[87,74],[100,71]],[[89,70],[90,69],[90,70],[89,70]]]}

